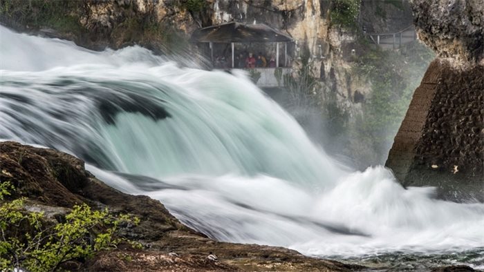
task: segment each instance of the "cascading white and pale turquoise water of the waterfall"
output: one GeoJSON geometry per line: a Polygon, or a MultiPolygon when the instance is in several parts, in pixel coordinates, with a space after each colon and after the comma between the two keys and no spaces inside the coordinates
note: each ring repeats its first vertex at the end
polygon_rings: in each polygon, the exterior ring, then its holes
{"type": "Polygon", "coordinates": [[[243,73],[0,27],[0,75],[0,138],[82,157],[215,239],[318,256],[484,252],[484,204],[404,189],[382,166],[351,173],[243,73]]]}

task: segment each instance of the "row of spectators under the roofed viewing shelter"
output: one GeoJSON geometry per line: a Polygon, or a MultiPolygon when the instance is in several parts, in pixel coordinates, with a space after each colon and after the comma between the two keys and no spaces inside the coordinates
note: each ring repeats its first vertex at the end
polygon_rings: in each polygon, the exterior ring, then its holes
{"type": "MultiPolygon", "coordinates": [[[[215,57],[214,61],[215,68],[232,68],[232,61],[231,59],[227,59],[225,57],[217,56],[215,57]]],[[[276,67],[276,59],[274,56],[271,56],[269,60],[262,55],[262,52],[259,52],[257,57],[254,57],[252,52],[247,54],[245,57],[244,53],[241,53],[239,56],[235,58],[234,62],[235,68],[275,68],[276,67]]]]}

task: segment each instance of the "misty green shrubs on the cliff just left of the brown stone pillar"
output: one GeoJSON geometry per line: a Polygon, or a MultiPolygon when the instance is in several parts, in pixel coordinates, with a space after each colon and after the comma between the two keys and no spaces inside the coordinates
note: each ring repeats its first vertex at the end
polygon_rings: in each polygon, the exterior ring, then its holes
{"type": "Polygon", "coordinates": [[[433,58],[434,53],[418,41],[399,52],[368,45],[363,55],[355,57],[353,70],[369,79],[371,96],[362,104],[362,113],[356,117],[351,133],[370,144],[380,163],[384,163],[413,91],[433,58]]]}

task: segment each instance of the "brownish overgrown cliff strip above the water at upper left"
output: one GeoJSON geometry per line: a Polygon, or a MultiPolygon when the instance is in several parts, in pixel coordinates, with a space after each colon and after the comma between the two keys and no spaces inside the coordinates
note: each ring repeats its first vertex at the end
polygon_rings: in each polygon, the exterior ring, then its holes
{"type": "Polygon", "coordinates": [[[0,23],[93,50],[138,44],[157,53],[183,52],[187,37],[172,19],[187,16],[169,8],[160,17],[154,4],[138,6],[136,1],[0,0],[0,23]]]}

